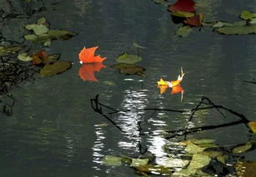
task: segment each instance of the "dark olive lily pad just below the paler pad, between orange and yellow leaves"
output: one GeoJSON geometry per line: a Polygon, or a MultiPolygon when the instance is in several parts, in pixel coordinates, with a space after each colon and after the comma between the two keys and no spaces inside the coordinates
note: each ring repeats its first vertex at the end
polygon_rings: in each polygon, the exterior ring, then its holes
{"type": "Polygon", "coordinates": [[[145,68],[143,66],[137,66],[133,64],[125,64],[125,63],[119,63],[112,66],[114,69],[118,69],[121,74],[125,75],[139,75],[139,76],[146,76],[143,71],[145,71],[145,68]]]}

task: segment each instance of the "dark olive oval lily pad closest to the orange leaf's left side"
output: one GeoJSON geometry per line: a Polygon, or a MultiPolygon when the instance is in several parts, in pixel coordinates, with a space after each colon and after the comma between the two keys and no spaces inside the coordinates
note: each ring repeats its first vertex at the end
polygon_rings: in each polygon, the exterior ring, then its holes
{"type": "Polygon", "coordinates": [[[53,63],[46,64],[40,71],[41,76],[53,76],[64,71],[67,71],[71,67],[70,61],[55,61],[53,63]]]}

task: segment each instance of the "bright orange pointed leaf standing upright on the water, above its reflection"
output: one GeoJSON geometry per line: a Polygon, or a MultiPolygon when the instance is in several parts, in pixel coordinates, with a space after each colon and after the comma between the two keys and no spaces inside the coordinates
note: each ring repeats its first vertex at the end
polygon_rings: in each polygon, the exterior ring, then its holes
{"type": "Polygon", "coordinates": [[[85,48],[79,53],[79,60],[82,63],[103,62],[106,57],[94,56],[98,47],[85,48]]]}

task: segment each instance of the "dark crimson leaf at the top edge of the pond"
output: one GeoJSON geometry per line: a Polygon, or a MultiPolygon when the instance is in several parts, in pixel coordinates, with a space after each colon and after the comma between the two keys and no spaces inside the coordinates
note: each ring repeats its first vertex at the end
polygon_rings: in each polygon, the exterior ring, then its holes
{"type": "Polygon", "coordinates": [[[194,12],[194,4],[193,0],[178,0],[173,5],[170,5],[168,10],[171,12],[194,12]]]}

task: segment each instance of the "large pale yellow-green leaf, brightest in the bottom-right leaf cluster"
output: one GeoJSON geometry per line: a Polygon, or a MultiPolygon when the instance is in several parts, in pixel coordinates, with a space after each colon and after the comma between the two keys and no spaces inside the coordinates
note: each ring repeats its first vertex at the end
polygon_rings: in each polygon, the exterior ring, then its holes
{"type": "Polygon", "coordinates": [[[208,155],[194,154],[190,164],[188,165],[188,170],[198,170],[208,165],[211,158],[208,155]]]}

